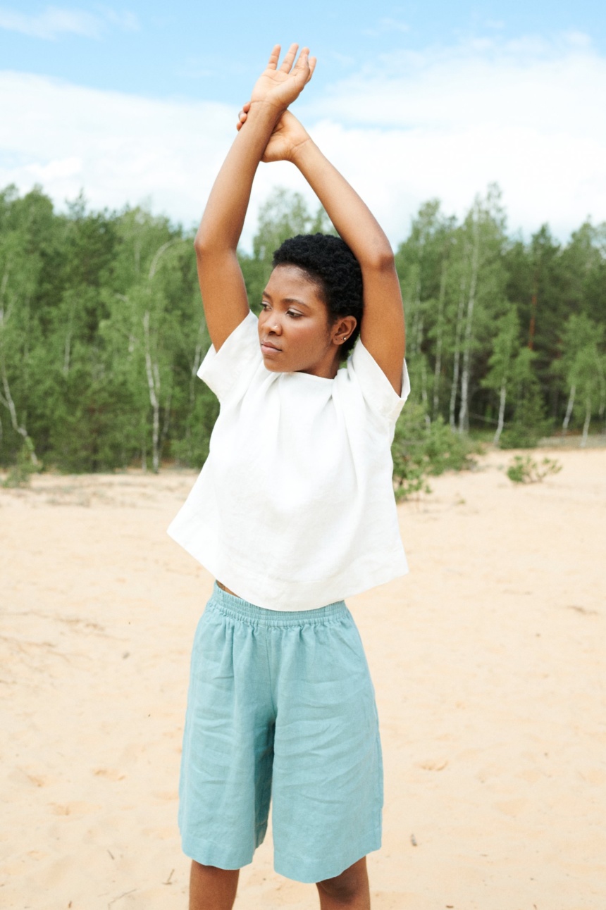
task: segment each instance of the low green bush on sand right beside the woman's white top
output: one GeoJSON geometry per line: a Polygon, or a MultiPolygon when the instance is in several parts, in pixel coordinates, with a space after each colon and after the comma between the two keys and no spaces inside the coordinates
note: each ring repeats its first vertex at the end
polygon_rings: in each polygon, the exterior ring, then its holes
{"type": "Polygon", "coordinates": [[[476,443],[450,430],[441,417],[429,422],[421,405],[407,404],[399,416],[391,446],[396,499],[429,492],[429,476],[445,470],[469,470],[475,464],[472,454],[478,450],[476,443]]]}

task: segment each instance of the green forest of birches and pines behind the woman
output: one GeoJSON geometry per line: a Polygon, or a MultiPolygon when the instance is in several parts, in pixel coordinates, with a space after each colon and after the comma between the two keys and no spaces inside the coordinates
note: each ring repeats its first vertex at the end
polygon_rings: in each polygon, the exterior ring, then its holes
{"type": "MultiPolygon", "coordinates": [[[[239,254],[253,310],[274,248],[331,229],[297,193],[268,197],[239,254]]],[[[396,264],[412,385],[400,478],[414,451],[439,461],[462,440],[604,432],[606,224],[565,244],[548,225],[510,235],[490,186],[462,220],[422,205],[396,264]]],[[[83,195],[57,212],[40,187],[0,191],[0,466],[199,468],[218,410],[196,376],[209,345],[191,231],[140,207],[90,211],[83,195]]]]}

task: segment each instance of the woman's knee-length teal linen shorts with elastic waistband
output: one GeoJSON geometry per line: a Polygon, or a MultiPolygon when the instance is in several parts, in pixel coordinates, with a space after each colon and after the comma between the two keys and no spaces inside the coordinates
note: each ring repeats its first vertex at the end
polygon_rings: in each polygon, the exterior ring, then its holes
{"type": "Polygon", "coordinates": [[[184,853],[239,869],[272,804],[274,868],[339,875],[381,845],[379,718],[343,601],[278,612],[217,584],[197,625],[179,781],[184,853]]]}

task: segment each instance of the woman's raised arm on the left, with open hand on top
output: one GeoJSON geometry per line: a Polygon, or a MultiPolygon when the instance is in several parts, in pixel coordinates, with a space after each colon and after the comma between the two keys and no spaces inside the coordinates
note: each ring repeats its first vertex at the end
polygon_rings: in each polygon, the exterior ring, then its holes
{"type": "Polygon", "coordinates": [[[217,350],[248,313],[236,250],[258,163],[279,117],[308,83],[316,63],[304,47],[295,64],[297,49],[290,45],[278,68],[280,45],[274,47],[253,89],[247,129],[238,133],[229,149],[197,230],[197,275],[208,332],[217,350]]]}

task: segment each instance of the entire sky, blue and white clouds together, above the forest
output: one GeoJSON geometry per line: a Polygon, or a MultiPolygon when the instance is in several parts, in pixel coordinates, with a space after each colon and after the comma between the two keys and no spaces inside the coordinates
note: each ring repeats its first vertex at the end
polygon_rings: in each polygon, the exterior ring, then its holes
{"type": "MultiPolygon", "coordinates": [[[[318,56],[293,111],[395,246],[419,205],[462,217],[490,182],[510,233],[606,220],[606,5],[0,0],[0,187],[61,209],[145,205],[186,227],[275,43],[318,56]]],[[[243,245],[272,187],[261,165],[243,245]]]]}

